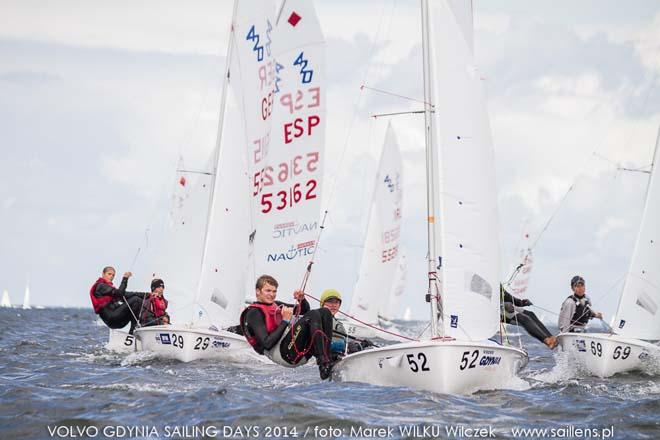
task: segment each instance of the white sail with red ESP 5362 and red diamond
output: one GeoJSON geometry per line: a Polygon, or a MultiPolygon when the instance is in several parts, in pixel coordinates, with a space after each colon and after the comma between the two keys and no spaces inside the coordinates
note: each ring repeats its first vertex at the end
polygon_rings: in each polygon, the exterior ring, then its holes
{"type": "MultiPolygon", "coordinates": [[[[255,214],[254,276],[271,274],[288,295],[316,247],[325,139],[325,42],[313,2],[286,0],[273,36],[275,83],[267,152],[249,152],[255,214]]],[[[283,296],[283,298],[287,298],[283,296]]]]}

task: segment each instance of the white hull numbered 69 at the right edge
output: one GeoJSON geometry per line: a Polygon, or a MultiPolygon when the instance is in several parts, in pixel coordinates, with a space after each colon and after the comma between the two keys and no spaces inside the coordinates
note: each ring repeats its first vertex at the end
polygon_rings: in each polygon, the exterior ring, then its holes
{"type": "Polygon", "coordinates": [[[646,370],[660,358],[657,345],[608,333],[560,333],[557,340],[581,368],[599,377],[646,370]]]}

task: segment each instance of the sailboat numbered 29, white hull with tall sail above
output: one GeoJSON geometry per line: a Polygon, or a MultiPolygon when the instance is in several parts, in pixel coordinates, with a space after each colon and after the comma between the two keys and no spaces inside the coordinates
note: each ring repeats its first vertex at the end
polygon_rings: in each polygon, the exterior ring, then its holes
{"type": "Polygon", "coordinates": [[[252,209],[247,146],[270,130],[262,99],[269,99],[274,81],[268,75],[272,54],[264,47],[274,12],[269,0],[234,3],[193,316],[140,327],[135,335],[142,350],[182,362],[251,352],[243,336],[225,329],[238,322],[246,287],[252,209]]]}

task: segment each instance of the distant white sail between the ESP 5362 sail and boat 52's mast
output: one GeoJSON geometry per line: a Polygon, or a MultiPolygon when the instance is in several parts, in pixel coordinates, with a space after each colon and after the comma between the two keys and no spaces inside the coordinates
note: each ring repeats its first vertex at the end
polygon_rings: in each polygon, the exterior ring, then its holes
{"type": "Polygon", "coordinates": [[[387,126],[372,196],[367,237],[349,314],[369,324],[390,317],[390,292],[398,266],[403,172],[399,145],[387,126]]]}

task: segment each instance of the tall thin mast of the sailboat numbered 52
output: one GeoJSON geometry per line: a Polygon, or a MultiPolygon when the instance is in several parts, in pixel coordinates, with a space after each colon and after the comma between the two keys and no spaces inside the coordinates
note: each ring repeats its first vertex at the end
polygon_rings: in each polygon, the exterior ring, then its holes
{"type": "Polygon", "coordinates": [[[426,230],[428,239],[428,277],[429,296],[431,305],[431,337],[444,336],[442,300],[439,297],[440,289],[438,270],[442,270],[442,260],[435,255],[435,173],[434,173],[434,142],[433,142],[433,104],[431,83],[431,48],[429,39],[429,13],[428,0],[421,0],[422,9],[422,53],[424,71],[424,137],[426,141],[426,230]],[[438,313],[440,312],[440,313],[438,313]],[[440,321],[440,326],[438,326],[440,321]]]}

